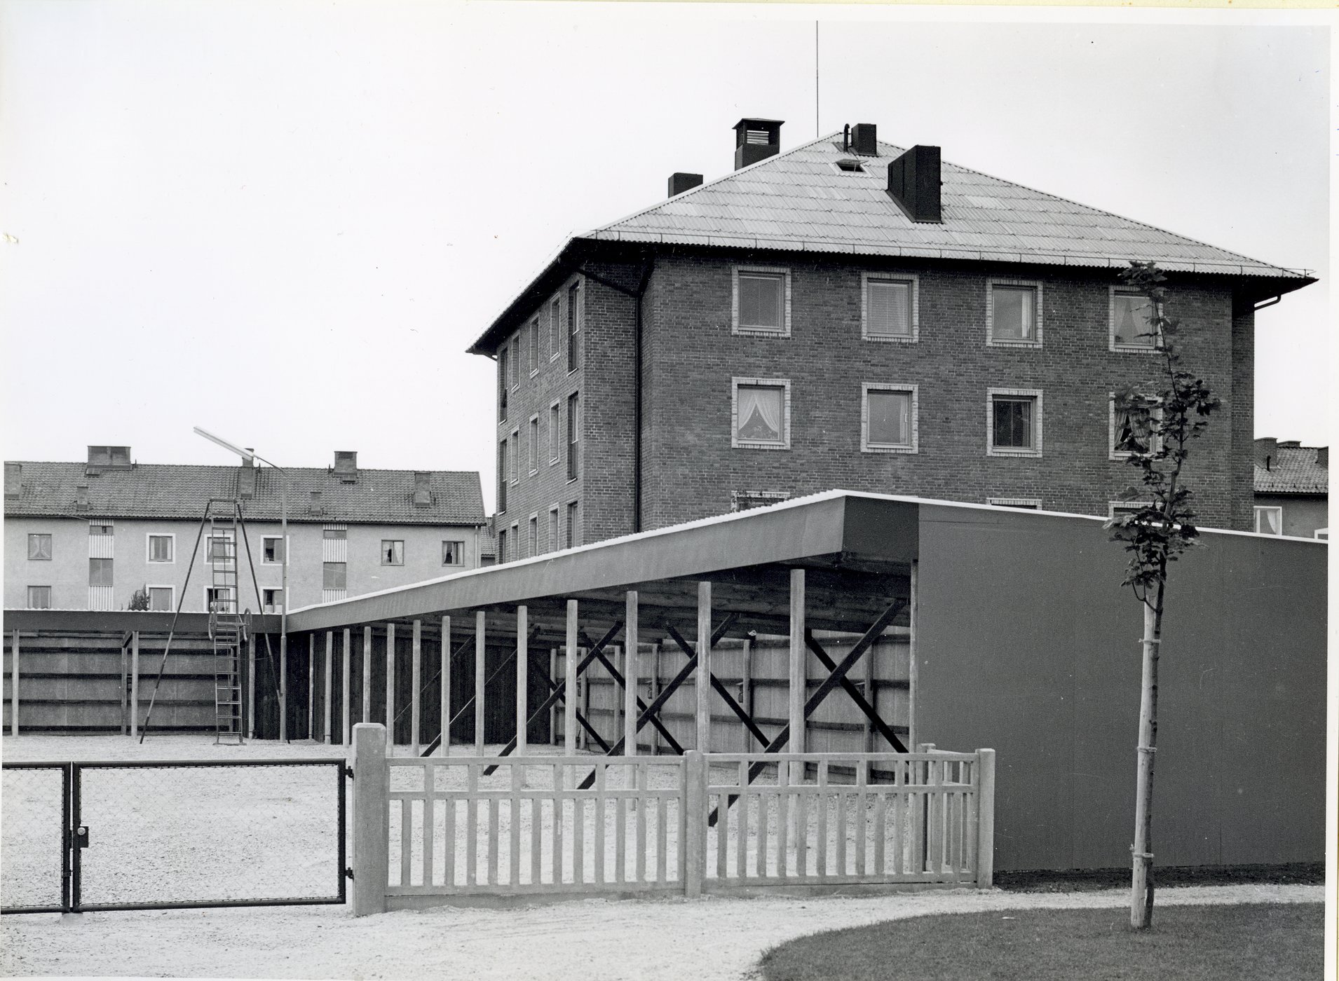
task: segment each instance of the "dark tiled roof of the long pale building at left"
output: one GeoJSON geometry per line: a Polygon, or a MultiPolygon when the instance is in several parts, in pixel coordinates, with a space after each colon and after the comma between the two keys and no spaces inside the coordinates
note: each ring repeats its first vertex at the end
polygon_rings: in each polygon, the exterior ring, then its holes
{"type": "MultiPolygon", "coordinates": [[[[241,467],[137,463],[125,470],[91,472],[83,463],[20,463],[17,499],[5,498],[5,517],[67,515],[79,518],[198,519],[209,498],[232,498],[241,467]],[[87,510],[75,507],[75,488],[88,484],[87,510]]],[[[288,519],[387,525],[482,525],[483,494],[473,470],[437,470],[428,476],[432,503],[414,505],[412,470],[359,470],[355,483],[319,467],[289,467],[288,519]],[[311,493],[321,493],[321,513],[311,510],[311,493]]],[[[256,494],[242,501],[253,521],[280,517],[280,475],[256,471],[256,494]]]]}

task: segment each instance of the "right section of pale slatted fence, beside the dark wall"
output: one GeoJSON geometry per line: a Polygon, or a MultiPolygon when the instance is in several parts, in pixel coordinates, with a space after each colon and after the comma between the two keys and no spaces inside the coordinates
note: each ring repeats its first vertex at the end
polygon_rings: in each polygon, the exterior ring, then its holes
{"type": "Polygon", "coordinates": [[[977,879],[977,753],[706,759],[704,891],[977,879]]]}

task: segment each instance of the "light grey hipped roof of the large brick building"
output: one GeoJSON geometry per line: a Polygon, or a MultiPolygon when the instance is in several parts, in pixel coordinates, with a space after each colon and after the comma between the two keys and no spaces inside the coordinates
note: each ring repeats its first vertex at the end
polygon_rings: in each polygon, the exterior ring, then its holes
{"type": "Polygon", "coordinates": [[[902,153],[878,145],[858,158],[833,134],[769,157],[578,238],[750,249],[1118,266],[1154,260],[1162,269],[1308,277],[947,161],[943,222],[917,224],[889,198],[888,165],[902,153]]]}

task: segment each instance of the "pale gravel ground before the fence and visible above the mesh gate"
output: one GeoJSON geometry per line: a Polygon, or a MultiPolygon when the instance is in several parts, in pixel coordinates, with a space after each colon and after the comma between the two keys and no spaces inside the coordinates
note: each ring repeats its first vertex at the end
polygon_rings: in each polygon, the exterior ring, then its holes
{"type": "MultiPolygon", "coordinates": [[[[198,737],[20,736],[5,760],[339,756],[339,747],[213,747],[198,737]]],[[[161,772],[161,771],[154,771],[161,772]]],[[[204,771],[201,771],[204,772],[204,771]]],[[[253,771],[261,772],[261,771],[253,771]]],[[[129,803],[129,802],[127,802],[129,803]]],[[[3,878],[8,879],[9,855],[3,878]]],[[[1158,902],[1323,902],[1323,886],[1164,889],[1158,902]]],[[[353,919],[344,907],[35,914],[0,919],[0,974],[295,978],[742,978],[817,930],[933,913],[1119,907],[1126,890],[939,890],[880,897],[572,901],[353,919]]]]}

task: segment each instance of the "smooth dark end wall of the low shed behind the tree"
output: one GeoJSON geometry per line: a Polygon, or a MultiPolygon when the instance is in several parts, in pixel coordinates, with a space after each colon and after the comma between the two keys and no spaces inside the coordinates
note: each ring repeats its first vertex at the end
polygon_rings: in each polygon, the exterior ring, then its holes
{"type": "MultiPolygon", "coordinates": [[[[919,739],[998,751],[996,866],[1129,863],[1142,614],[1101,522],[921,506],[919,739]]],[[[1205,534],[1168,594],[1157,865],[1324,855],[1326,546],[1205,534]]]]}

